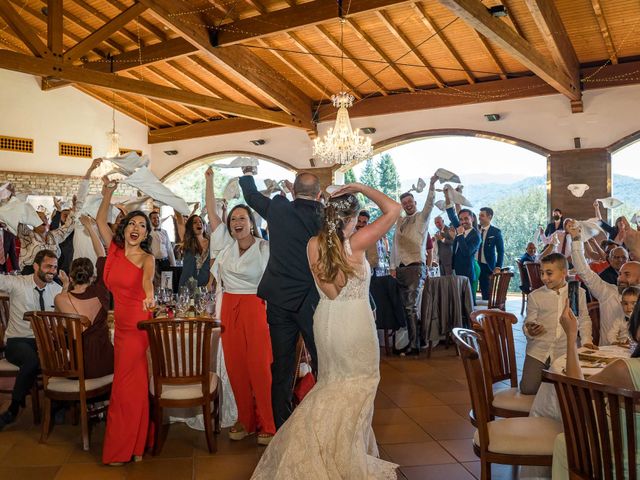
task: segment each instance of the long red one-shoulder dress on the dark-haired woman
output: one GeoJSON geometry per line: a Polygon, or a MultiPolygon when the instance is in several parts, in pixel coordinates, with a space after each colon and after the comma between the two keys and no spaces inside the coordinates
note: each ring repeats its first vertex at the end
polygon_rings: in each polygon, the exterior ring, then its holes
{"type": "Polygon", "coordinates": [[[138,322],[149,318],[143,308],[142,268],[111,242],[104,283],[114,300],[114,369],[102,461],[128,462],[144,453],[149,427],[147,334],[138,322]]]}

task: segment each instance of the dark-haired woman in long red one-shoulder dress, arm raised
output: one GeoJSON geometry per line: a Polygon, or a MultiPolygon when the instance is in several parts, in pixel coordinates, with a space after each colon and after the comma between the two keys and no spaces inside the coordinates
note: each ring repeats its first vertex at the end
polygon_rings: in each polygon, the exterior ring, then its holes
{"type": "Polygon", "coordinates": [[[102,203],[97,214],[100,234],[108,247],[104,283],[114,300],[114,370],[102,462],[122,465],[140,461],[149,427],[149,377],[147,335],[138,322],[149,318],[154,307],[151,223],[141,211],[127,214],[115,234],[107,212],[117,183],[104,178],[102,203]]]}

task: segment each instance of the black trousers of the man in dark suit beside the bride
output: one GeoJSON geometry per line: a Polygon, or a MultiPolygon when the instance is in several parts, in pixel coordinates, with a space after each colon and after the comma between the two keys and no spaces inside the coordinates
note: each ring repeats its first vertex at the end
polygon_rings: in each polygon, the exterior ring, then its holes
{"type": "Polygon", "coordinates": [[[311,354],[314,372],[317,372],[318,356],[313,339],[313,313],[318,304],[316,295],[308,295],[300,310],[291,312],[272,302],[267,302],[267,321],[271,335],[271,404],[276,428],[287,421],[293,411],[293,385],[296,373],[296,344],[302,334],[311,354]]]}

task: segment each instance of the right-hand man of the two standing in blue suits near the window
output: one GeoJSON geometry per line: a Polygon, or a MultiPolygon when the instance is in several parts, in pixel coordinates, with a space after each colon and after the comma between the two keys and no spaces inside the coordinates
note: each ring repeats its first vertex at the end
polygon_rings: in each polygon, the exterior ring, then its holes
{"type": "Polygon", "coordinates": [[[480,222],[480,248],[478,263],[480,264],[480,293],[483,300],[489,300],[491,286],[489,277],[502,268],[504,260],[504,240],[499,228],[491,225],[493,209],[482,207],[478,220],[480,222]]]}

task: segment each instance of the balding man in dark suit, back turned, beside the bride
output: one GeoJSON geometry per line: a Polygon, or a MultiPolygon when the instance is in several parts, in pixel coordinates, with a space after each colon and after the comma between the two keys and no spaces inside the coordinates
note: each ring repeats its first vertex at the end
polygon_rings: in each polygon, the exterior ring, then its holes
{"type": "Polygon", "coordinates": [[[240,187],[247,204],[269,228],[269,263],[258,296],[267,302],[273,352],[271,401],[276,428],[280,428],[293,410],[298,334],[311,354],[314,371],[317,367],[313,313],[319,296],[307,260],[307,243],[317,235],[322,221],[320,182],[310,173],[298,175],[293,202],[282,195],[265,197],[251,175],[240,178],[240,187]]]}

